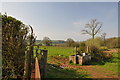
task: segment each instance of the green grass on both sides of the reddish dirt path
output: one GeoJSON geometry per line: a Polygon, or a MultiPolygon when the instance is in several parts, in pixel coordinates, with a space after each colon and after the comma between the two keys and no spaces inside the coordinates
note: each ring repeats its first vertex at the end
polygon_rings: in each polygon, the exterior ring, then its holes
{"type": "MultiPolygon", "coordinates": [[[[48,50],[48,64],[59,66],[59,61],[53,61],[51,56],[60,56],[64,58],[68,58],[70,55],[74,54],[74,48],[72,47],[57,47],[57,46],[41,46],[40,49],[48,50]],[[49,61],[55,62],[55,64],[49,63],[49,61]]],[[[118,75],[118,53],[113,53],[113,57],[108,60],[104,60],[101,62],[92,62],[90,65],[97,65],[103,68],[106,68],[110,71],[116,72],[115,75],[118,75]]],[[[55,69],[50,65],[47,66],[47,77],[48,78],[87,78],[90,76],[87,75],[87,71],[81,71],[80,69],[55,69]],[[71,76],[72,75],[72,76],[71,76]]],[[[74,64],[70,64],[74,65],[74,64]]],[[[81,66],[81,65],[76,65],[81,66]]]]}

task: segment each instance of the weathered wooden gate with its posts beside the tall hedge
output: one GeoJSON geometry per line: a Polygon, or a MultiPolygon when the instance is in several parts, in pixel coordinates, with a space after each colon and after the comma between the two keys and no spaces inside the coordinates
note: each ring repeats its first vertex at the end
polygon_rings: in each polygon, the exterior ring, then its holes
{"type": "Polygon", "coordinates": [[[39,45],[34,45],[32,51],[28,51],[26,57],[28,60],[26,60],[25,78],[40,80],[46,76],[47,53],[48,51],[40,49],[39,45]]]}

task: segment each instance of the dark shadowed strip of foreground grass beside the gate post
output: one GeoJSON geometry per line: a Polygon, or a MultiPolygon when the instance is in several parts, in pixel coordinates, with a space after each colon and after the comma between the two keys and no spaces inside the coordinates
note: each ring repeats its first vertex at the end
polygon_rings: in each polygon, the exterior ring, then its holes
{"type": "Polygon", "coordinates": [[[61,68],[59,66],[48,64],[46,78],[87,78],[86,71],[72,68],[61,68]]]}

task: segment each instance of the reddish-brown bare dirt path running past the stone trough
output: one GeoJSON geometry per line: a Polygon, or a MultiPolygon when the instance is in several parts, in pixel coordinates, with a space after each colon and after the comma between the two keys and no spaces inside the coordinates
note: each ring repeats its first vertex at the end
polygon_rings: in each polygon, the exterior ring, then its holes
{"type": "Polygon", "coordinates": [[[62,57],[52,57],[52,60],[56,62],[60,62],[60,67],[62,68],[78,68],[78,69],[86,70],[92,78],[118,78],[118,76],[115,75],[115,72],[109,71],[97,65],[89,65],[89,66],[69,65],[68,59],[62,57]]]}

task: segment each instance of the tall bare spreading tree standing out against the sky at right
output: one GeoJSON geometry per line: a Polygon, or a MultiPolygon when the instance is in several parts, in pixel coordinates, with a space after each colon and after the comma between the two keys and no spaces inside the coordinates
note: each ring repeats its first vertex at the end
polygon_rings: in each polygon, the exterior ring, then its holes
{"type": "Polygon", "coordinates": [[[95,35],[100,31],[102,23],[97,22],[97,19],[92,19],[88,24],[86,24],[86,30],[82,30],[82,34],[89,34],[94,39],[95,35]]]}

